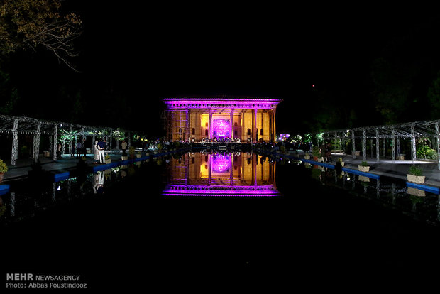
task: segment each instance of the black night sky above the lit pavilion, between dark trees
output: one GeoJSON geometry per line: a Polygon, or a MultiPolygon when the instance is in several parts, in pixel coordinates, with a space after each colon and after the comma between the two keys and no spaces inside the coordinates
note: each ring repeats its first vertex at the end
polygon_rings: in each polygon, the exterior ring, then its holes
{"type": "Polygon", "coordinates": [[[28,77],[38,73],[31,79],[33,93],[50,96],[54,85],[79,86],[87,92],[88,107],[99,109],[106,101],[103,92],[123,92],[136,109],[125,125],[131,129],[158,125],[163,97],[277,97],[284,99],[277,117],[284,132],[310,115],[292,116],[291,110],[312,104],[312,85],[365,94],[362,81],[371,60],[434,10],[255,2],[136,5],[67,1],[65,8],[83,19],[81,56],[74,60],[82,73],[57,66],[51,56],[43,61],[43,73],[42,62],[21,65],[28,77]]]}

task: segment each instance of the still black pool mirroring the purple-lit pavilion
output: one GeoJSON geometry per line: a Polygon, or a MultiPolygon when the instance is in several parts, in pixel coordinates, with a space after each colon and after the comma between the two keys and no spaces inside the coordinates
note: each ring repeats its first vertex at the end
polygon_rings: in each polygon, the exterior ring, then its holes
{"type": "Polygon", "coordinates": [[[58,183],[17,181],[1,195],[4,266],[75,271],[101,285],[254,269],[300,270],[303,281],[336,264],[351,274],[439,259],[409,254],[440,245],[438,195],[316,169],[255,153],[184,153],[58,183]]]}

